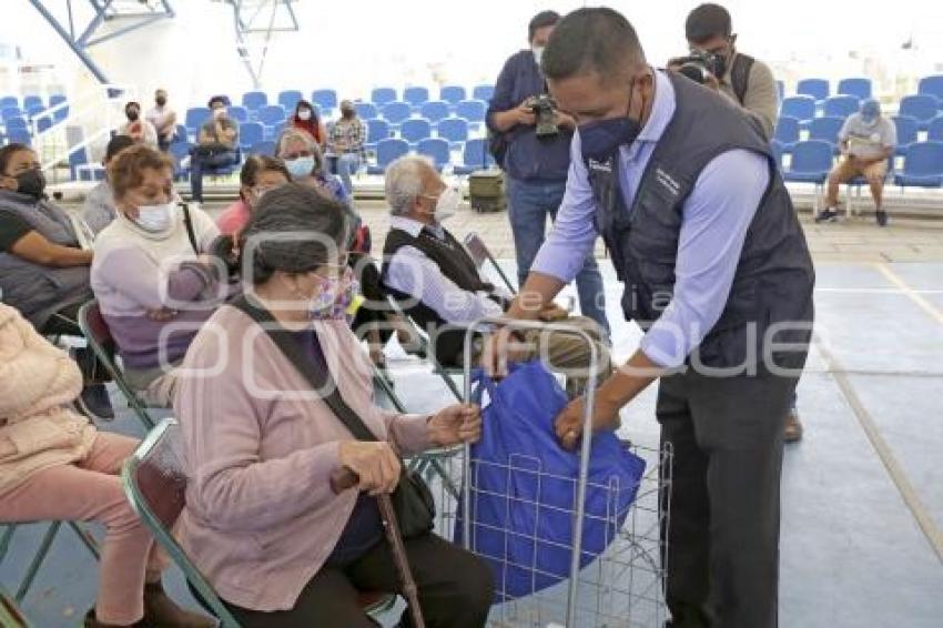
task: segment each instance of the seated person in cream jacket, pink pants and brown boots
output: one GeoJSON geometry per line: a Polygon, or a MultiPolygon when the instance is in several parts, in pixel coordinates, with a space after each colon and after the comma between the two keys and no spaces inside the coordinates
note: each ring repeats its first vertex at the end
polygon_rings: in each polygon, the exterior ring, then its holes
{"type": "Polygon", "coordinates": [[[0,524],[99,521],[105,527],[87,628],[211,628],[161,587],[163,561],[124,497],[121,466],[138,446],[74,412],[82,375],[69,355],[0,304],[0,524]]]}

